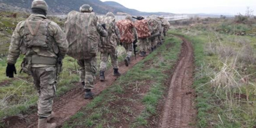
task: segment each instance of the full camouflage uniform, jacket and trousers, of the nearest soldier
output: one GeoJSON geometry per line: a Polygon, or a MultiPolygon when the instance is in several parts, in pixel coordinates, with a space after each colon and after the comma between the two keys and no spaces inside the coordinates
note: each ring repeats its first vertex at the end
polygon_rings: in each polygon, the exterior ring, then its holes
{"type": "MultiPolygon", "coordinates": [[[[55,64],[58,57],[57,54],[60,57],[64,57],[67,53],[68,45],[66,36],[55,22],[47,20],[46,17],[41,14],[31,14],[28,18],[28,22],[34,30],[36,27],[33,26],[33,22],[38,21],[47,22],[48,27],[45,29],[40,26],[35,36],[36,38],[33,38],[26,21],[21,21],[17,24],[12,34],[7,62],[15,64],[20,53],[26,55],[22,63],[22,69],[33,76],[34,85],[39,94],[38,116],[48,117],[52,112],[56,91],[55,64]],[[43,35],[46,30],[48,31],[48,35],[43,35]],[[31,39],[33,39],[33,41],[31,39]],[[33,46],[33,43],[42,43],[40,40],[47,41],[49,48],[33,46]],[[30,47],[29,43],[32,43],[30,47]],[[47,62],[47,60],[51,62],[47,62]]],[[[41,22],[41,25],[43,26],[45,22],[41,22]]]]}

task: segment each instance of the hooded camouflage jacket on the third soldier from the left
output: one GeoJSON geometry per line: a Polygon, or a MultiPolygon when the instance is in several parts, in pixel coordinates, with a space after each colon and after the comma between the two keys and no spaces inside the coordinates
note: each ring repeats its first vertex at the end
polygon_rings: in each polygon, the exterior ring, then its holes
{"type": "Polygon", "coordinates": [[[121,36],[115,23],[114,14],[112,12],[108,12],[106,16],[99,18],[98,21],[102,24],[106,24],[106,31],[108,32],[108,36],[100,38],[99,50],[104,52],[104,49],[106,48],[116,48],[121,36]]]}

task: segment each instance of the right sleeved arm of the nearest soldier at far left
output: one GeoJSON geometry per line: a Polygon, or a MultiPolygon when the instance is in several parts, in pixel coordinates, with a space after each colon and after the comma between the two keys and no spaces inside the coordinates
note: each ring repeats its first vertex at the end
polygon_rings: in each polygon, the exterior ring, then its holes
{"type": "Polygon", "coordinates": [[[68,50],[68,43],[66,40],[66,35],[62,31],[60,26],[58,24],[56,24],[55,22],[51,22],[50,25],[52,27],[54,40],[57,43],[57,46],[60,51],[59,55],[61,55],[61,57],[64,58],[64,56],[67,54],[67,50],[68,50]]]}

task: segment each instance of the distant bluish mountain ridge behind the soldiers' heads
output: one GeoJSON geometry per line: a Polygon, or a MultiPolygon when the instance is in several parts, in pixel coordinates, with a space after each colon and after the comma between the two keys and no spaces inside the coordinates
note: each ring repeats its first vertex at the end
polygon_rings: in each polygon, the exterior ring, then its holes
{"type": "MultiPolygon", "coordinates": [[[[29,12],[33,0],[0,0],[0,11],[26,11],[29,12]]],[[[48,3],[48,14],[67,14],[71,10],[79,10],[83,4],[89,4],[93,7],[93,11],[97,14],[106,14],[113,12],[114,14],[131,14],[131,15],[169,15],[171,13],[164,12],[140,12],[135,9],[128,9],[117,2],[102,2],[100,0],[45,0],[48,3]]]]}

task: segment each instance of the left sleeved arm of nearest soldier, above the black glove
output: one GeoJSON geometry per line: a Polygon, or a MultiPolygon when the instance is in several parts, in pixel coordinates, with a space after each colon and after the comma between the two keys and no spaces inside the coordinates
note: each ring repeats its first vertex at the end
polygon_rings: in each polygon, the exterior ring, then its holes
{"type": "Polygon", "coordinates": [[[19,24],[17,24],[15,30],[12,33],[12,38],[9,46],[9,54],[7,57],[7,62],[9,64],[15,64],[21,53],[19,47],[24,34],[24,27],[22,26],[22,24],[24,24],[23,21],[19,22],[19,24]]]}

